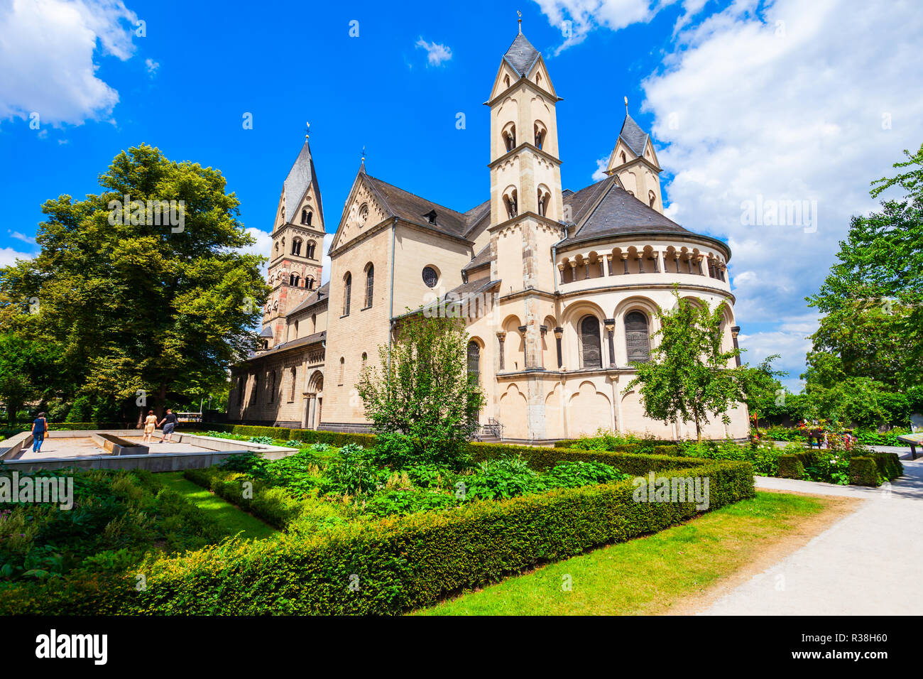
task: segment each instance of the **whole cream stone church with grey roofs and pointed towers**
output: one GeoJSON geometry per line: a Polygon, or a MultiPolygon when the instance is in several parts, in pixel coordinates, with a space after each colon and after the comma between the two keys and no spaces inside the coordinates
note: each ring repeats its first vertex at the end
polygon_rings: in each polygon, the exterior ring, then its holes
{"type": "MultiPolygon", "coordinates": [[[[655,311],[675,304],[674,284],[712,308],[725,301],[724,348],[737,346],[730,249],[665,216],[653,140],[627,112],[605,178],[562,188],[560,101],[520,30],[486,102],[489,197],[457,211],[363,163],[325,285],[327,229],[306,139],[276,209],[261,346],[232,370],[228,421],[368,431],[360,371],[408,309],[422,309],[464,319],[468,370],[485,392],[483,438],[548,443],[600,428],[694,436],[692,424],[646,417],[639,394],[625,392],[629,364],[649,359],[655,311]]],[[[728,416],[703,435],[746,437],[747,407],[728,416]]]]}

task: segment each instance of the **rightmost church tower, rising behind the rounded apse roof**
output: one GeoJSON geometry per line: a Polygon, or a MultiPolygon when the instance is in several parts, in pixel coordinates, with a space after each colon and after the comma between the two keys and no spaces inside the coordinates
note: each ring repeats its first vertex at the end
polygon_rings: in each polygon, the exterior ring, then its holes
{"type": "Polygon", "coordinates": [[[609,156],[606,175],[617,175],[622,186],[645,205],[663,214],[664,200],[660,193],[660,164],[653,151],[651,135],[634,121],[625,98],[625,120],[618,132],[616,146],[609,156]]]}

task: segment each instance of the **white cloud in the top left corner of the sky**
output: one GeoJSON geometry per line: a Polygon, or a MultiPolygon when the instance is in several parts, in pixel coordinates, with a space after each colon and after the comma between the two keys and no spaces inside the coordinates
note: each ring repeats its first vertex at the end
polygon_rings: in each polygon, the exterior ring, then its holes
{"type": "Polygon", "coordinates": [[[122,0],[0,0],[0,118],[106,118],[118,92],[97,78],[93,56],[98,45],[131,56],[136,20],[122,0]]]}

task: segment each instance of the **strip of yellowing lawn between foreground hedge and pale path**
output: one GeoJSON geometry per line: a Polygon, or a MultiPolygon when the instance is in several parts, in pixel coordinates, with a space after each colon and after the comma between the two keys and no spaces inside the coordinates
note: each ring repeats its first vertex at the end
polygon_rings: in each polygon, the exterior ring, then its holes
{"type": "Polygon", "coordinates": [[[758,492],[660,533],[621,542],[417,611],[425,615],[637,615],[670,612],[835,503],[758,492]],[[570,582],[571,589],[565,590],[570,582]]]}

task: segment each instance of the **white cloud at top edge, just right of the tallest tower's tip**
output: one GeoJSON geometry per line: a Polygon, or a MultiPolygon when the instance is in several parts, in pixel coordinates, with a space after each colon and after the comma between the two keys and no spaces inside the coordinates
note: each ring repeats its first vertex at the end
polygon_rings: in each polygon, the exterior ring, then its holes
{"type": "MultiPolygon", "coordinates": [[[[548,23],[561,31],[564,38],[554,51],[559,55],[586,40],[596,28],[624,29],[633,23],[650,21],[662,7],[675,0],[535,0],[548,23]]],[[[687,0],[695,5],[696,0],[687,0]]]]}

